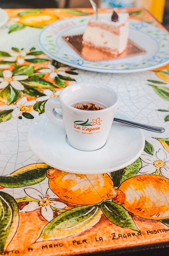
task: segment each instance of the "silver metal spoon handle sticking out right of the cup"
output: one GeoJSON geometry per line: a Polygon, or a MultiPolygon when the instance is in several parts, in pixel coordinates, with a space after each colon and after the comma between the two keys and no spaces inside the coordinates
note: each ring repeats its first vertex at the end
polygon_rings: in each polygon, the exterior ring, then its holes
{"type": "Polygon", "coordinates": [[[140,124],[137,122],[127,121],[127,120],[123,120],[123,119],[119,119],[119,118],[114,118],[114,121],[123,123],[125,125],[130,125],[133,127],[148,130],[148,131],[155,131],[155,132],[160,132],[160,133],[165,131],[165,128],[163,128],[163,127],[152,126],[152,125],[143,125],[143,124],[140,124]]]}

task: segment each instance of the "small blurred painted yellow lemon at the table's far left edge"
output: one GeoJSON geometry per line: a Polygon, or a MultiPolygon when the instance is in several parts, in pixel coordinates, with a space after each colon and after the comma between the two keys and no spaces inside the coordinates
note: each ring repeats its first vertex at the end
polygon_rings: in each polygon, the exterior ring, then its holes
{"type": "Polygon", "coordinates": [[[44,13],[26,14],[20,17],[20,23],[26,26],[46,26],[57,20],[55,15],[44,13]]]}

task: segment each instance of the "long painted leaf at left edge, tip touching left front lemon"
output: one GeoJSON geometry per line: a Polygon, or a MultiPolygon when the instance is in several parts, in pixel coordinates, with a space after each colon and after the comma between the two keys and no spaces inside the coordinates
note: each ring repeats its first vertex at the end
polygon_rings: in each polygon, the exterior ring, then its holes
{"type": "Polygon", "coordinates": [[[46,171],[51,168],[46,163],[34,163],[25,166],[8,176],[0,176],[0,186],[19,188],[40,183],[46,178],[46,171]]]}

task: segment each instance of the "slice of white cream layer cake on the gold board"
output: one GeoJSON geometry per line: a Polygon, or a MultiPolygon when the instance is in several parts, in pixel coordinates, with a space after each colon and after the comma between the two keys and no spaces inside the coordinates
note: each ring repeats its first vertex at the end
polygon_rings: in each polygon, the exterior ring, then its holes
{"type": "Polygon", "coordinates": [[[118,13],[118,21],[111,20],[112,14],[95,15],[83,34],[83,43],[112,54],[122,53],[129,37],[129,14],[118,13]]]}

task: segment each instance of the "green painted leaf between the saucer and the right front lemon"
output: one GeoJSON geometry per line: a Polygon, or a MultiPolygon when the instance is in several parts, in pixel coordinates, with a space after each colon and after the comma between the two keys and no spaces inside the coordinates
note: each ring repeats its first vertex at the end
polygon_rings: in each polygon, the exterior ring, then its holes
{"type": "Polygon", "coordinates": [[[118,187],[124,180],[135,176],[142,166],[140,158],[129,166],[115,172],[111,172],[111,177],[115,187],[118,187]]]}

